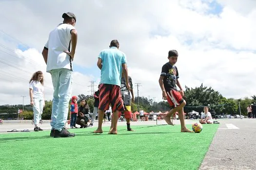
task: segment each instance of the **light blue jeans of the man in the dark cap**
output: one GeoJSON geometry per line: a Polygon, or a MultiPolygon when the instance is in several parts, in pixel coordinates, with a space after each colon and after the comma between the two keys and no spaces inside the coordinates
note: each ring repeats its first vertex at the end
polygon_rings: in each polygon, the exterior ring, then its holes
{"type": "Polygon", "coordinates": [[[71,98],[73,71],[67,68],[50,71],[53,82],[52,129],[61,131],[68,117],[68,104],[71,98]]]}

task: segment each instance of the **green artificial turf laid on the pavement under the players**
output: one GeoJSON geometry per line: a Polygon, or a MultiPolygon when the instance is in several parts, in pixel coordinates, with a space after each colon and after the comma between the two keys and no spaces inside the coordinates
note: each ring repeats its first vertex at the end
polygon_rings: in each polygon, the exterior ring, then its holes
{"type": "MultiPolygon", "coordinates": [[[[191,128],[192,125],[187,125],[191,128]]],[[[180,126],[118,126],[118,135],[71,129],[75,137],[53,138],[50,131],[0,135],[3,170],[197,170],[218,124],[201,133],[180,133],[180,126]]]]}

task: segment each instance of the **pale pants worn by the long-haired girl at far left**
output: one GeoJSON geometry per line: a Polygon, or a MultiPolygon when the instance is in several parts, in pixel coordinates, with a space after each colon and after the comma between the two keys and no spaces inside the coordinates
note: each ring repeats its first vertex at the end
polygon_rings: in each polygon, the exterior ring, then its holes
{"type": "Polygon", "coordinates": [[[42,115],[44,100],[33,98],[33,102],[34,123],[35,125],[38,125],[42,115]]]}

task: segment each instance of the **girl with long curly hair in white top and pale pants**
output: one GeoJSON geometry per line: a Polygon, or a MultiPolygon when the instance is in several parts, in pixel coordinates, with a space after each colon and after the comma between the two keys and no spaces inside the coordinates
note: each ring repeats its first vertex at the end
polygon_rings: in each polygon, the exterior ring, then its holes
{"type": "Polygon", "coordinates": [[[38,124],[45,105],[43,91],[43,74],[41,71],[37,71],[29,81],[30,104],[33,106],[34,112],[34,131],[42,131],[38,124]]]}

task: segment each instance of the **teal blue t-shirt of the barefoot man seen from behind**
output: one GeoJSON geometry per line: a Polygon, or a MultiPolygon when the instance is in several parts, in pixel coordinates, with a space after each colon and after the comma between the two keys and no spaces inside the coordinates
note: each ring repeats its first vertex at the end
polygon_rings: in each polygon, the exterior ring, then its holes
{"type": "Polygon", "coordinates": [[[102,60],[100,84],[121,86],[122,64],[126,63],[126,55],[116,47],[103,50],[98,58],[102,60]]]}

